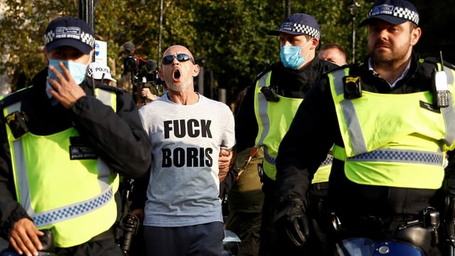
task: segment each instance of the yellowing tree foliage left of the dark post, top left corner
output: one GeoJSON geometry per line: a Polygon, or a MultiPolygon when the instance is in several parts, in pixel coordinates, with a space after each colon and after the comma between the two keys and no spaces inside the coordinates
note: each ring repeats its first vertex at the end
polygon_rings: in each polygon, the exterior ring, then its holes
{"type": "Polygon", "coordinates": [[[0,73],[9,75],[17,90],[30,83],[34,74],[45,67],[43,43],[45,26],[61,14],[77,16],[77,1],[4,0],[6,9],[0,21],[0,55],[6,56],[0,73]],[[17,83],[21,83],[18,85],[17,83]]]}

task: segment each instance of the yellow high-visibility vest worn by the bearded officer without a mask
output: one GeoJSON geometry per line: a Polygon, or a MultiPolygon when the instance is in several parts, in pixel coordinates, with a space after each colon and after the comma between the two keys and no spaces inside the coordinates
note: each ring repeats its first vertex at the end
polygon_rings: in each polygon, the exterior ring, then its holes
{"type": "Polygon", "coordinates": [[[328,74],[344,148],[333,157],[345,161],[355,183],[401,188],[441,187],[444,155],[455,147],[454,70],[446,68],[449,107],[432,107],[432,92],[380,94],[362,91],[345,100],[342,78],[349,68],[328,74]]]}

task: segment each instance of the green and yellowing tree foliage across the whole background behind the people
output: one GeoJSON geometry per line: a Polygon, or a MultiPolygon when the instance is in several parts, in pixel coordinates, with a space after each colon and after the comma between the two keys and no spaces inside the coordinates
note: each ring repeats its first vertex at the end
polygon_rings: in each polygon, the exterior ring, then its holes
{"type": "MultiPolygon", "coordinates": [[[[367,31],[358,24],[373,1],[359,0],[360,8],[350,13],[349,0],[291,1],[291,13],[311,14],[321,27],[321,45],[338,43],[352,58],[355,22],[355,61],[367,54],[367,31]]],[[[417,46],[422,55],[446,52],[455,59],[455,36],[444,26],[451,22],[455,0],[433,3],[415,1],[421,14],[422,39],[417,46]],[[435,38],[441,38],[435,40],[435,38]]],[[[286,17],[286,0],[94,0],[95,36],[107,41],[108,65],[117,86],[123,83],[122,45],[131,41],[136,53],[159,63],[161,55],[174,44],[188,47],[198,64],[213,73],[216,88],[228,90],[228,101],[250,85],[257,73],[279,60],[279,41],[267,31],[279,28],[286,17]],[[160,44],[161,28],[161,44],[160,44]],[[161,46],[161,47],[160,47],[161,46]]],[[[0,23],[4,56],[0,73],[13,79],[14,88],[28,85],[34,74],[45,67],[43,34],[48,22],[57,16],[78,16],[77,0],[4,0],[6,10],[0,23]]]]}

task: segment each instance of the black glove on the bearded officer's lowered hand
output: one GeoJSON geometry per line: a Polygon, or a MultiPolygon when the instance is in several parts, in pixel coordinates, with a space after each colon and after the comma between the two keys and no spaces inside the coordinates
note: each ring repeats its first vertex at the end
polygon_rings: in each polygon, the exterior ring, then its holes
{"type": "Polygon", "coordinates": [[[280,203],[273,224],[279,235],[284,231],[296,246],[304,245],[309,237],[304,202],[299,198],[290,198],[280,203]]]}

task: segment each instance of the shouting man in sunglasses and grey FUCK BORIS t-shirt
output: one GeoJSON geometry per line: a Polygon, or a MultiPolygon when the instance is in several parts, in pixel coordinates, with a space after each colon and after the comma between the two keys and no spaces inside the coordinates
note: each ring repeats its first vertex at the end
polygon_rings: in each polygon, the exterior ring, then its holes
{"type": "Polygon", "coordinates": [[[147,255],[221,255],[223,215],[218,158],[235,144],[228,105],[194,91],[199,73],[191,52],[164,52],[161,80],[168,93],[141,107],[153,145],[144,216],[147,255]]]}

